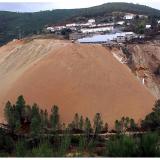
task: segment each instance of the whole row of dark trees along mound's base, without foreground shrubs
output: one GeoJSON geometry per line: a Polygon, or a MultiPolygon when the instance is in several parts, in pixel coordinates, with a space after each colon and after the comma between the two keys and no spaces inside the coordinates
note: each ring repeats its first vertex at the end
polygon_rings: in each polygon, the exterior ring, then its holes
{"type": "MultiPolygon", "coordinates": [[[[42,110],[34,103],[32,106],[27,105],[23,96],[19,96],[15,104],[7,102],[5,109],[5,118],[12,131],[18,131],[28,127],[28,131],[33,134],[38,134],[43,129],[50,128],[54,132],[57,130],[65,130],[78,133],[85,133],[89,136],[90,133],[99,134],[108,132],[108,124],[102,120],[102,115],[96,113],[93,121],[88,117],[83,117],[76,113],[71,123],[64,124],[60,120],[59,107],[54,105],[51,107],[51,113],[48,114],[47,110],[42,110]]],[[[134,119],[129,117],[122,117],[120,120],[115,121],[115,131],[117,133],[125,133],[127,131],[143,130],[156,130],[160,128],[160,100],[156,101],[153,111],[148,114],[138,126],[134,119]]]]}

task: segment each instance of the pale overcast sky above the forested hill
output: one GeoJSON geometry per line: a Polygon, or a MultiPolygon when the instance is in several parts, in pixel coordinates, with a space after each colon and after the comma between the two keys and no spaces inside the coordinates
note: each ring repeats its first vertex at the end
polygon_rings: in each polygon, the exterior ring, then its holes
{"type": "Polygon", "coordinates": [[[0,0],[0,10],[16,12],[35,12],[40,10],[64,8],[85,8],[107,2],[131,2],[160,9],[160,0],[52,0],[52,2],[50,0],[47,0],[47,2],[44,2],[44,0],[23,0],[23,3],[21,0],[18,1],[19,2],[15,2],[14,0],[5,0],[3,2],[2,0],[0,0]]]}

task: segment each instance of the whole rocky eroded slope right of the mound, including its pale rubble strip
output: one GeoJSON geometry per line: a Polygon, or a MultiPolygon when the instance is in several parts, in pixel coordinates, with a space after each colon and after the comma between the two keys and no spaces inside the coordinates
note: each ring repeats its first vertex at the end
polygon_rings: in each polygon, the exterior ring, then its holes
{"type": "Polygon", "coordinates": [[[160,65],[160,41],[128,44],[121,49],[112,49],[112,53],[126,62],[137,79],[157,99],[160,98],[160,75],[156,74],[160,65]]]}

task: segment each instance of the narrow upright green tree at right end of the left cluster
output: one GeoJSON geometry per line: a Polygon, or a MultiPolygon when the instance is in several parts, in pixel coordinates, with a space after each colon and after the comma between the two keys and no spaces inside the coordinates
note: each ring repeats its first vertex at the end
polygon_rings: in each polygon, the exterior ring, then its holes
{"type": "Polygon", "coordinates": [[[58,106],[53,106],[51,109],[50,123],[51,127],[56,130],[58,129],[60,118],[59,118],[59,108],[58,106]]]}

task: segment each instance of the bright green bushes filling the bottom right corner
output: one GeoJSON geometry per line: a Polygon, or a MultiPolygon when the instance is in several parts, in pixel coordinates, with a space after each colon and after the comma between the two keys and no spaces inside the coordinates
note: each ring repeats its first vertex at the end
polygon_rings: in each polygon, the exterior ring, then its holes
{"type": "Polygon", "coordinates": [[[109,157],[159,157],[159,142],[160,136],[155,132],[138,137],[119,135],[107,142],[105,155],[109,157]]]}

